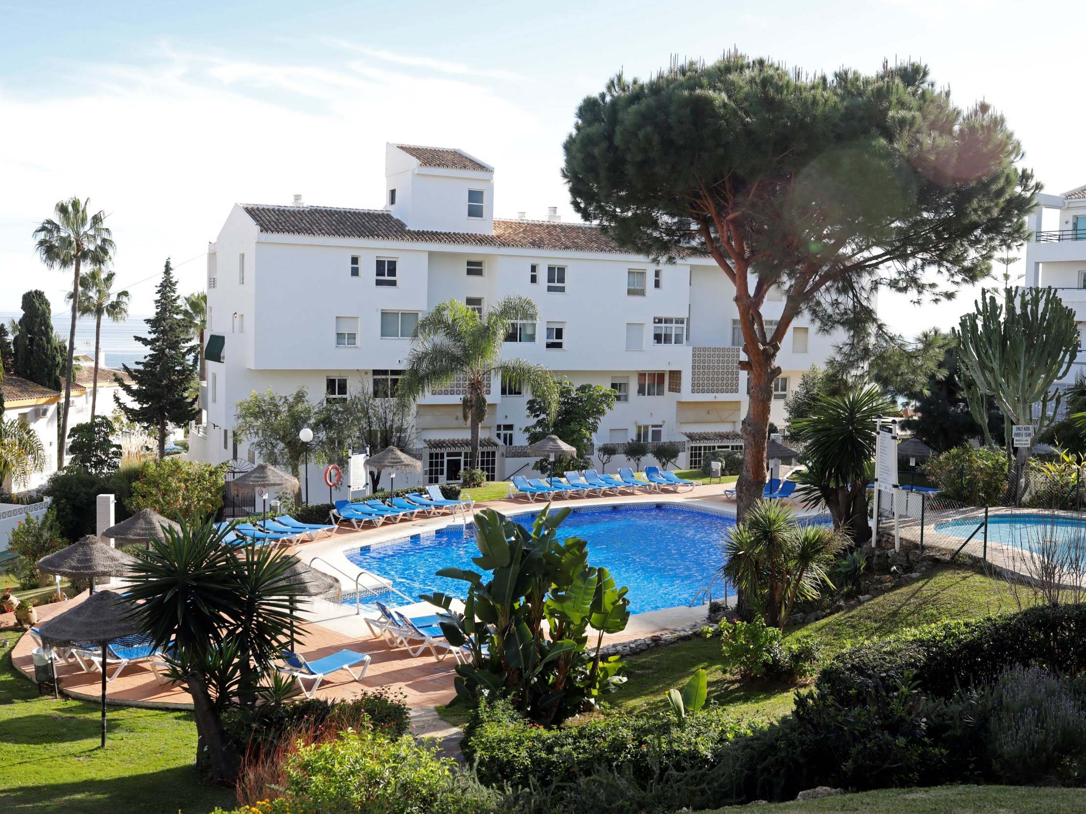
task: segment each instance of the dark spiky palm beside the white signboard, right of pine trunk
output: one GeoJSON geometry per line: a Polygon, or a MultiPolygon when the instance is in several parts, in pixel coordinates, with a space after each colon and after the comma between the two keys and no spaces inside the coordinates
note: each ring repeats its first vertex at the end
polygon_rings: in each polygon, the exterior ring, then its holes
{"type": "Polygon", "coordinates": [[[824,503],[835,529],[849,529],[856,543],[870,535],[868,483],[875,454],[877,419],[889,410],[883,392],[871,385],[838,396],[816,395],[810,415],[788,429],[804,450],[805,471],[792,475],[796,495],[809,506],[824,503]]]}

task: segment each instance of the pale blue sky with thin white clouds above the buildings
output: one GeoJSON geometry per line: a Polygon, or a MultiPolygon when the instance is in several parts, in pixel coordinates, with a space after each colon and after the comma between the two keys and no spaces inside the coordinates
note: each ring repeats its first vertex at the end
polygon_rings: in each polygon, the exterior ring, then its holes
{"type": "MultiPolygon", "coordinates": [[[[697,7],[627,0],[5,3],[0,0],[0,311],[28,288],[64,308],[34,253],[58,200],[89,196],[117,243],[131,313],[168,256],[181,293],[230,206],[380,207],[388,141],[458,147],[495,167],[495,214],[577,219],[559,175],[578,103],[618,71],[737,48],[809,71],[926,62],[960,106],[1002,112],[1048,192],[1086,183],[1076,101],[1086,7],[866,0],[697,7]]],[[[1012,274],[1022,272],[1019,263],[1012,274]]],[[[949,329],[975,291],[914,306],[897,332],[949,329]]]]}

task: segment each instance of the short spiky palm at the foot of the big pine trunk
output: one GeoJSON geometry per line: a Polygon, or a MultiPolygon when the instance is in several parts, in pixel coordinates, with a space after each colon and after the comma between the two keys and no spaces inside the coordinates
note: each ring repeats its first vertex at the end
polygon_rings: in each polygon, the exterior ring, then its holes
{"type": "Polygon", "coordinates": [[[783,627],[796,599],[815,599],[825,569],[846,545],[841,533],[824,525],[796,522],[779,500],[759,500],[724,540],[728,560],[721,571],[766,624],[783,627]]]}

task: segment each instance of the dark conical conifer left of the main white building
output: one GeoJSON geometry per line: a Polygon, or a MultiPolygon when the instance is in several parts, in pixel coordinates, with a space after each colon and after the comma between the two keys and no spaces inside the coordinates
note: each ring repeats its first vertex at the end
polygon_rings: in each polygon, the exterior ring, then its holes
{"type": "Polygon", "coordinates": [[[195,365],[189,347],[189,329],[177,296],[177,281],[169,259],[159,283],[154,316],[146,320],[150,336],[136,336],[148,348],[147,357],[135,367],[123,365],[131,383],[121,389],[136,403],[129,406],[114,396],[125,418],[159,435],[159,458],[166,454],[166,425],[185,424],[199,416],[197,398],[190,395],[195,365]]]}

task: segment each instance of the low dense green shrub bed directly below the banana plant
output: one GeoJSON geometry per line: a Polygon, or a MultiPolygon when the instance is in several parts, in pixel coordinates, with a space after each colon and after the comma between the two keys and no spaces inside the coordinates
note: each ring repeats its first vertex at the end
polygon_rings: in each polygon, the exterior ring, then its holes
{"type": "Polygon", "coordinates": [[[607,713],[577,726],[545,729],[526,721],[506,700],[480,701],[462,748],[482,783],[527,787],[580,781],[599,770],[646,778],[682,772],[704,765],[720,747],[750,732],[718,707],[683,723],[662,712],[607,713]]]}

